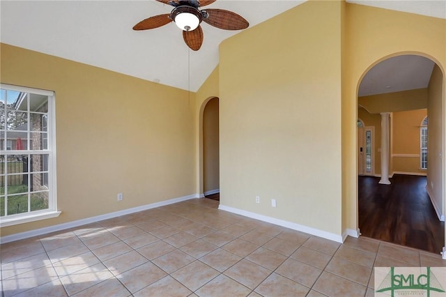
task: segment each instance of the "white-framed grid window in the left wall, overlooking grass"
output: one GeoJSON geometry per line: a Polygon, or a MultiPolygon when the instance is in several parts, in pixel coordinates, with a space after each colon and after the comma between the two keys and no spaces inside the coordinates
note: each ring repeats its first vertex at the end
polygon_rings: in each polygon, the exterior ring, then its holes
{"type": "Polygon", "coordinates": [[[53,218],[54,93],[1,84],[0,226],[53,218]]]}

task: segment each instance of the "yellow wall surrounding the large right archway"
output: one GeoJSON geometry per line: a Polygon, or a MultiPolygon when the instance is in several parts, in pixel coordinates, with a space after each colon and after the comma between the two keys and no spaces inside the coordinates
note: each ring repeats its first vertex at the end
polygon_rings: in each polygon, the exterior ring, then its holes
{"type": "Polygon", "coordinates": [[[345,172],[342,197],[350,211],[343,213],[342,222],[343,229],[355,229],[357,177],[353,172],[357,172],[357,89],[360,81],[376,63],[399,54],[420,54],[444,69],[446,20],[346,3],[345,22],[344,33],[348,42],[343,50],[348,54],[342,64],[345,90],[342,100],[342,151],[345,156],[342,160],[342,171],[345,172]]]}

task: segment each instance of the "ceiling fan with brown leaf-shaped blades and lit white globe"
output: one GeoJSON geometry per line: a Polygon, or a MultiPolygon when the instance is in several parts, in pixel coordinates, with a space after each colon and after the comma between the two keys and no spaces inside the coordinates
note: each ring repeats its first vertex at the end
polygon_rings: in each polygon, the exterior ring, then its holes
{"type": "Polygon", "coordinates": [[[203,43],[203,30],[200,23],[206,22],[225,30],[241,30],[249,26],[247,20],[240,15],[224,9],[209,8],[200,10],[202,6],[214,3],[216,0],[156,0],[174,6],[171,13],[155,15],[142,20],[133,26],[133,30],[155,29],[170,22],[183,30],[183,39],[191,50],[199,50],[203,43]]]}

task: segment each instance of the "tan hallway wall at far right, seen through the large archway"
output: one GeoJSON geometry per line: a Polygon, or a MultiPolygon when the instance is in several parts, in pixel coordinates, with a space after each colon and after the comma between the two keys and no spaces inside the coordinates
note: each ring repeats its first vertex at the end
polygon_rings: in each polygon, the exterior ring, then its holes
{"type": "Polygon", "coordinates": [[[445,217],[445,93],[446,79],[438,66],[433,67],[429,82],[429,105],[427,108],[427,190],[437,214],[445,217]],[[443,99],[443,100],[442,100],[443,99]],[[443,114],[442,114],[443,111],[443,114]],[[432,137],[438,135],[438,137],[432,137]],[[443,168],[442,168],[443,163],[443,168]],[[441,186],[443,184],[443,187],[441,186]]]}

